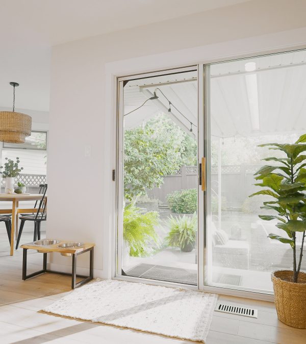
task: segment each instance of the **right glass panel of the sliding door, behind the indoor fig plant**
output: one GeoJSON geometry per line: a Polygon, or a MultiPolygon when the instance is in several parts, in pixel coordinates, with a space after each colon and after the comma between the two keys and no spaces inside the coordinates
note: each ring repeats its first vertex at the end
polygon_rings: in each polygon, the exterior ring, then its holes
{"type": "MultiPolygon", "coordinates": [[[[209,285],[271,293],[271,271],[292,270],[290,245],[267,237],[271,232],[284,236],[284,231],[275,226],[277,221],[258,216],[271,215],[271,210],[260,208],[271,199],[248,196],[261,190],[254,186],[254,173],[273,165],[261,159],[281,156],[258,145],[294,143],[305,133],[304,61],[306,52],[300,50],[212,64],[208,69],[209,285]]],[[[301,236],[297,233],[297,242],[301,236]]],[[[305,268],[306,260],[301,269],[305,268]]]]}

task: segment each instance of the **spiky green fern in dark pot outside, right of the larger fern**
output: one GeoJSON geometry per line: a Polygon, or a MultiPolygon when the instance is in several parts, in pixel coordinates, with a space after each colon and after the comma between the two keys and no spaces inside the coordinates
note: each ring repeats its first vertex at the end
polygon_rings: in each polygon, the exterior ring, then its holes
{"type": "Polygon", "coordinates": [[[180,247],[183,252],[191,252],[195,246],[197,217],[186,215],[168,218],[170,231],[166,236],[168,246],[180,247]]]}

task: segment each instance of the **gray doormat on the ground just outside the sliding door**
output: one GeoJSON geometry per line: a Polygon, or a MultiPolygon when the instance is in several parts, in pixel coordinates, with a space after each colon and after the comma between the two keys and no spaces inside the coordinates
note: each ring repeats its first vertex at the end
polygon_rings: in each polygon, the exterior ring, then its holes
{"type": "Polygon", "coordinates": [[[197,271],[181,268],[163,267],[154,264],[139,264],[124,271],[127,276],[156,279],[159,281],[197,285],[197,271]]]}

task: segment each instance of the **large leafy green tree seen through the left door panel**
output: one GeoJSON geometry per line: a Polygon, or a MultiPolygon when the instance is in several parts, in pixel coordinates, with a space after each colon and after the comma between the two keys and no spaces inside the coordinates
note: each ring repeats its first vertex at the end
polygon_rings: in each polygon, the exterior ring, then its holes
{"type": "Polygon", "coordinates": [[[196,142],[165,115],[124,131],[124,197],[160,187],[163,176],[196,161],[196,142]]]}

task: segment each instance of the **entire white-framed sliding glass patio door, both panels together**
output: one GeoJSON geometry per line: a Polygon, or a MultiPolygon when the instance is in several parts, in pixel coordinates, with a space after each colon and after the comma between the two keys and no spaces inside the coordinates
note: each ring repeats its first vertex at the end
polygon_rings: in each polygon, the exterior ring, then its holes
{"type": "Polygon", "coordinates": [[[305,94],[305,50],[120,78],[117,276],[271,294],[292,249],[249,196],[281,157],[259,145],[305,134],[305,94]]]}

